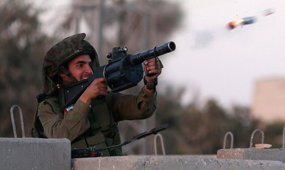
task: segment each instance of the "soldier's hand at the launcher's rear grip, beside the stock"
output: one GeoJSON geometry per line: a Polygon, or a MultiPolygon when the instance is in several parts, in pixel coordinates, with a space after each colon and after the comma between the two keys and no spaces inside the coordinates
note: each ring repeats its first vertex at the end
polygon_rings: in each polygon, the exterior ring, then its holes
{"type": "Polygon", "coordinates": [[[99,95],[107,96],[107,88],[108,86],[103,77],[95,79],[82,93],[79,100],[90,104],[91,100],[97,98],[99,95]]]}

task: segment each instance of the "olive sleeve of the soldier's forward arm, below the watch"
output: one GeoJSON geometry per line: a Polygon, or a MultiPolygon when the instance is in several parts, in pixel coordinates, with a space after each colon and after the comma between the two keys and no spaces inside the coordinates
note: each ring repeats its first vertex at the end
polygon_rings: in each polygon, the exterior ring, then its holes
{"type": "Polygon", "coordinates": [[[110,96],[111,99],[109,100],[112,100],[113,103],[112,111],[116,122],[123,120],[147,119],[153,115],[157,107],[157,92],[148,93],[144,87],[138,95],[111,93],[110,96]],[[139,109],[140,102],[145,103],[141,109],[139,109]]]}

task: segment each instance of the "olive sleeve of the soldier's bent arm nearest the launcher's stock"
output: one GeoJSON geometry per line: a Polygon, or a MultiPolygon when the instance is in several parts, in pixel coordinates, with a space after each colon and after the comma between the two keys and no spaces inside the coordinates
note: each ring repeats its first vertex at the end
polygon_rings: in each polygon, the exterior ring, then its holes
{"type": "Polygon", "coordinates": [[[72,142],[89,129],[89,111],[89,105],[78,100],[68,113],[58,115],[52,106],[43,101],[39,104],[38,116],[47,138],[67,138],[72,142]]]}

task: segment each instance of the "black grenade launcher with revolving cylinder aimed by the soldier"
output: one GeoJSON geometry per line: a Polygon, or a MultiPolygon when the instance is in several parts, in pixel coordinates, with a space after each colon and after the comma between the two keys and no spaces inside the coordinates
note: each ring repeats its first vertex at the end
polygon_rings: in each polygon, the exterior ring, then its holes
{"type": "MultiPolygon", "coordinates": [[[[64,110],[64,108],[75,103],[85,89],[97,78],[104,77],[112,92],[119,92],[138,85],[143,79],[144,73],[141,63],[172,52],[175,48],[176,45],[173,41],[137,54],[127,54],[127,47],[114,47],[112,52],[107,54],[107,58],[110,59],[108,64],[96,68],[91,77],[60,87],[61,109],[64,110]]],[[[147,76],[152,75],[147,72],[147,76]]]]}

